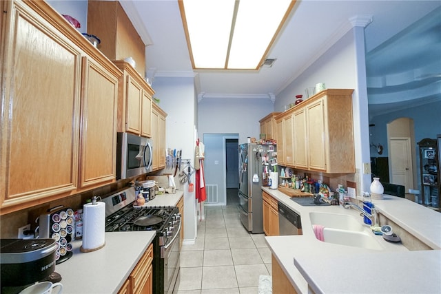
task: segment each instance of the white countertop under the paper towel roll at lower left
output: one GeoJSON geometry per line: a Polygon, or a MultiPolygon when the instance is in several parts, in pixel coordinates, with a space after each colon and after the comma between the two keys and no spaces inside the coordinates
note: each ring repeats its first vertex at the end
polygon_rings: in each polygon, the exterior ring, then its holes
{"type": "Polygon", "coordinates": [[[63,293],[117,293],[155,235],[155,231],[105,233],[105,246],[88,253],[80,251],[81,240],[74,240],[72,258],[55,266],[63,293]]]}

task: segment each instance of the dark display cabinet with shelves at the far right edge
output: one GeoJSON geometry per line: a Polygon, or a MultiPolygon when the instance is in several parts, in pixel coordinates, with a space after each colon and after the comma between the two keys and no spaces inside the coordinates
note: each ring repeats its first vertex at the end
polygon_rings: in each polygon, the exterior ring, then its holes
{"type": "MultiPolygon", "coordinates": [[[[439,139],[438,139],[439,140],[439,139]]],[[[420,175],[422,204],[440,209],[440,156],[435,139],[425,138],[418,143],[420,149],[420,175]]]]}

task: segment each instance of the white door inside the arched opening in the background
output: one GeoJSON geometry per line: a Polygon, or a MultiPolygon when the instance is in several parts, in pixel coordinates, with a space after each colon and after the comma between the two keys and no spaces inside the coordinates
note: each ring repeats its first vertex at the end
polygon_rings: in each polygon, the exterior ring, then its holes
{"type": "Polygon", "coordinates": [[[390,138],[389,158],[391,183],[413,189],[411,138],[390,138]]]}

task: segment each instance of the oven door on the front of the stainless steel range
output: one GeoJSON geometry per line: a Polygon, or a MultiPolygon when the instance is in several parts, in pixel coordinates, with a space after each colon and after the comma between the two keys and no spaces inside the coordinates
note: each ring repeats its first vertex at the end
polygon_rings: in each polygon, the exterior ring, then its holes
{"type": "Polygon", "coordinates": [[[181,243],[181,221],[179,222],[178,230],[175,231],[174,236],[170,242],[167,242],[161,249],[161,258],[164,260],[164,293],[176,293],[179,288],[180,269],[179,261],[181,243]]]}

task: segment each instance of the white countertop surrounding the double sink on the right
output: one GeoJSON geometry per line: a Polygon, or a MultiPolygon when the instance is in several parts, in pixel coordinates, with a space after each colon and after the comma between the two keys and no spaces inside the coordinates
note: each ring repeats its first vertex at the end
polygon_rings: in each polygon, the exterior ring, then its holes
{"type": "MultiPolygon", "coordinates": [[[[370,250],[320,242],[309,212],[358,216],[340,206],[302,207],[285,193],[263,188],[301,216],[303,235],[266,237],[265,240],[299,293],[308,286],[316,293],[440,293],[441,251],[407,251],[401,244],[373,235],[384,250],[370,250]]],[[[441,214],[404,198],[373,200],[380,213],[434,249],[440,249],[441,214]],[[421,215],[424,215],[422,217],[421,215]],[[420,229],[424,227],[424,229],[420,229]]],[[[362,218],[360,218],[362,223],[362,218]]]]}

